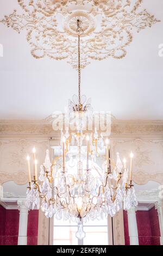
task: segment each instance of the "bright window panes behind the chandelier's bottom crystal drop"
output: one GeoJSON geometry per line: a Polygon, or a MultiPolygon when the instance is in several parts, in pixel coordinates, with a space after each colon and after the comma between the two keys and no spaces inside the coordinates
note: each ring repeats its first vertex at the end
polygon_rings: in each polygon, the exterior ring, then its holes
{"type": "Polygon", "coordinates": [[[89,221],[84,223],[86,236],[78,240],[76,222],[58,221],[54,218],[53,245],[108,245],[108,221],[89,221]]]}

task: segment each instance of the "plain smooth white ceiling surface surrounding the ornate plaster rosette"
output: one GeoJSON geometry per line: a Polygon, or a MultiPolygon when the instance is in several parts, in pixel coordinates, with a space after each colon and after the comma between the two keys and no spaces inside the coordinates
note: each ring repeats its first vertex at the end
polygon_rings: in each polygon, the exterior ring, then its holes
{"type": "MultiPolygon", "coordinates": [[[[122,60],[94,61],[82,72],[82,92],[92,97],[97,111],[118,119],[163,119],[163,1],[144,0],[141,9],[160,23],[134,34],[122,60]]],[[[0,19],[18,8],[17,0],[1,0],[0,19]]],[[[0,119],[42,119],[64,111],[67,98],[77,93],[77,71],[66,61],[37,60],[30,54],[26,33],[0,24],[0,119]]]]}

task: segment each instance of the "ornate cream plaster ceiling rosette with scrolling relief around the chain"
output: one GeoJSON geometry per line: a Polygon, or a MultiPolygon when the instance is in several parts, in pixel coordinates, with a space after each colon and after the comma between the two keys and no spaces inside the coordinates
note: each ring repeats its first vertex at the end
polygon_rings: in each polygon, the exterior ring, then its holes
{"type": "Polygon", "coordinates": [[[22,8],[1,22],[18,33],[27,31],[35,58],[67,59],[77,68],[77,20],[82,22],[81,65],[91,59],[121,59],[134,32],[151,27],[158,20],[147,10],[139,11],[143,0],[17,0],[22,8]]]}

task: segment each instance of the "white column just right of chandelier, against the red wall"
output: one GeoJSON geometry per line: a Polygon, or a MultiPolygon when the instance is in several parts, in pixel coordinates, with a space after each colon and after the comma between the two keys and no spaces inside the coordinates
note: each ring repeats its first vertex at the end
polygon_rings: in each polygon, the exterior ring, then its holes
{"type": "Polygon", "coordinates": [[[130,245],[139,245],[135,208],[128,210],[127,214],[130,245]]]}

